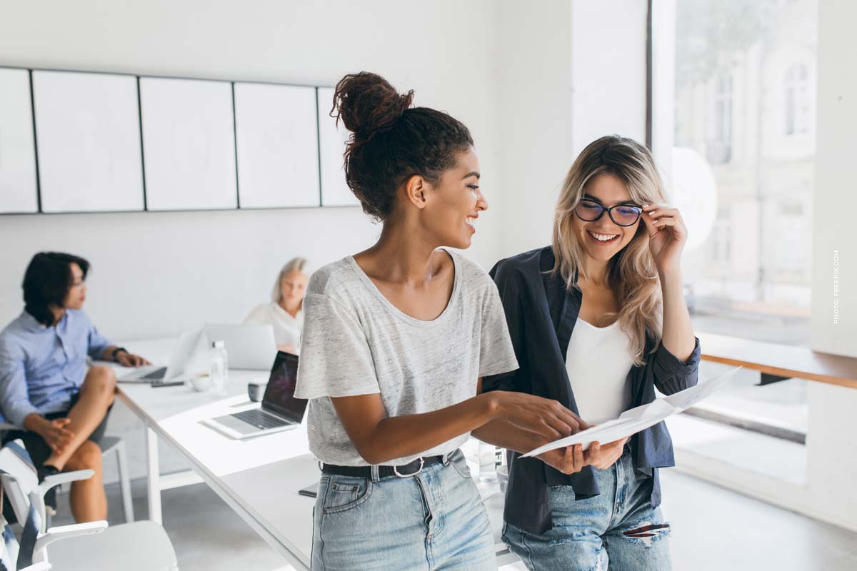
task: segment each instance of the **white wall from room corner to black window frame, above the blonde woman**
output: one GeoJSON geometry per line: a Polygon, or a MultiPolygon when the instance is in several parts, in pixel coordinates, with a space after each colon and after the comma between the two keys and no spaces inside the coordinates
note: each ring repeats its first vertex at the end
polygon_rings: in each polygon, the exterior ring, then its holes
{"type": "Polygon", "coordinates": [[[550,243],[562,181],[593,140],[645,141],[646,3],[502,3],[502,255],[550,243]]]}

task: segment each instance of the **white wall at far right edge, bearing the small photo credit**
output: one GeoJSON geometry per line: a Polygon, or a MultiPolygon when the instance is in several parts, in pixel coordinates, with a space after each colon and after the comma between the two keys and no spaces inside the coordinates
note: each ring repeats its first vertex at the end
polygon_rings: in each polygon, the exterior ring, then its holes
{"type": "MultiPolygon", "coordinates": [[[[820,3],[812,197],[812,348],[849,357],[857,357],[857,240],[851,204],[857,133],[855,19],[855,3],[820,3]]],[[[857,531],[857,390],[812,383],[809,402],[812,497],[826,519],[857,531]]]]}

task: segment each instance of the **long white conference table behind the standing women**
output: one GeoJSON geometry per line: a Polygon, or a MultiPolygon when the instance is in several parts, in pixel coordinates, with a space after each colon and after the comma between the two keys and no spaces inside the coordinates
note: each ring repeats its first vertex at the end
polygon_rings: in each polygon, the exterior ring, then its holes
{"type": "MultiPolygon", "coordinates": [[[[156,364],[165,364],[175,339],[127,342],[123,346],[156,364]]],[[[117,375],[123,372],[117,367],[117,375]]],[[[309,455],[306,425],[263,437],[237,440],[201,420],[254,407],[247,397],[250,381],[267,382],[267,372],[229,372],[229,396],[218,399],[184,386],[152,388],[120,383],[118,397],[146,426],[149,518],[162,522],[160,492],[205,482],[273,550],[296,569],[309,569],[314,498],[297,492],[314,484],[319,467],[309,455]],[[170,443],[193,473],[161,474],[159,438],[170,443]],[[194,474],[195,473],[195,474],[194,474]]],[[[494,528],[498,567],[518,558],[500,541],[503,496],[486,497],[494,528]]]]}

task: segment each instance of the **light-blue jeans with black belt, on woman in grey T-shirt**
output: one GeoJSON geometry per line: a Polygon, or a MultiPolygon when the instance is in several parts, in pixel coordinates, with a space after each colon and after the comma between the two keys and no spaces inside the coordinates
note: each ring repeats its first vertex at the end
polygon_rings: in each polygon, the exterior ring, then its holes
{"type": "Polygon", "coordinates": [[[310,567],[496,569],[491,524],[461,450],[410,478],[322,474],[310,567]]]}

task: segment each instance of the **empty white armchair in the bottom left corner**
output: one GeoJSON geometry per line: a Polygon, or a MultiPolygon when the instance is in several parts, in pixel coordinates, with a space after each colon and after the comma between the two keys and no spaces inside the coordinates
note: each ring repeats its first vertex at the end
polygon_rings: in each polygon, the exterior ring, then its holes
{"type": "Polygon", "coordinates": [[[63,571],[123,569],[123,571],[177,571],[176,551],[162,526],[153,521],[135,521],[107,527],[106,521],[45,529],[44,493],[54,485],[92,477],[92,470],[58,473],[39,485],[35,467],[20,440],[0,450],[0,480],[18,520],[31,514],[39,520],[33,562],[50,561],[63,571]],[[58,535],[63,532],[63,537],[58,535]],[[73,541],[57,539],[77,535],[73,541]],[[97,533],[93,535],[93,533],[97,533]],[[50,547],[49,547],[50,545],[50,547]]]}

